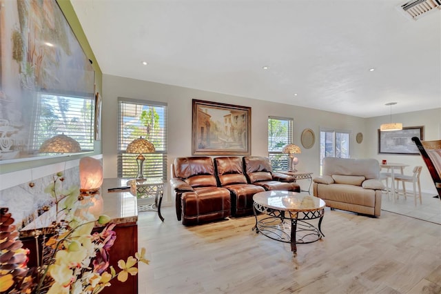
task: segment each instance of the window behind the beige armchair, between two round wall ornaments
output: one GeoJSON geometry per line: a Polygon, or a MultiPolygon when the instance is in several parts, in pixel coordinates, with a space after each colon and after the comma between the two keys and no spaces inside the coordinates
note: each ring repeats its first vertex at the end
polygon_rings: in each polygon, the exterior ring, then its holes
{"type": "Polygon", "coordinates": [[[351,132],[339,130],[320,130],[320,175],[322,175],[323,158],[349,158],[351,154],[351,132]]]}

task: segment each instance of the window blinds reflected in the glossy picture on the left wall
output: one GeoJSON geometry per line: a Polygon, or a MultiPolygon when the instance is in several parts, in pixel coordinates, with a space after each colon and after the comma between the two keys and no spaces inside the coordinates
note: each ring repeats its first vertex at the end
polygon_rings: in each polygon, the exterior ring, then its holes
{"type": "Polygon", "coordinates": [[[94,150],[94,99],[41,92],[37,95],[30,149],[39,150],[43,141],[63,133],[78,141],[81,151],[94,150]]]}

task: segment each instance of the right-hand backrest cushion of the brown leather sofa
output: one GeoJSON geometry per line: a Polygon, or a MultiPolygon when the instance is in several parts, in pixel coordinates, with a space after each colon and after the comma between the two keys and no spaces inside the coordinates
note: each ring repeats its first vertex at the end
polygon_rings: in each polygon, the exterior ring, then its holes
{"type": "Polygon", "coordinates": [[[271,162],[268,157],[245,156],[243,157],[243,168],[249,183],[253,184],[273,179],[271,162]]]}

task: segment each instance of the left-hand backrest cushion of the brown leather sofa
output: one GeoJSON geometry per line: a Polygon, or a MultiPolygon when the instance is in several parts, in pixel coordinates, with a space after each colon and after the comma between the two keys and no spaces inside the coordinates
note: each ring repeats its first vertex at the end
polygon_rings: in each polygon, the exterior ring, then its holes
{"type": "Polygon", "coordinates": [[[177,157],[174,159],[174,175],[193,188],[217,186],[211,157],[177,157]]]}

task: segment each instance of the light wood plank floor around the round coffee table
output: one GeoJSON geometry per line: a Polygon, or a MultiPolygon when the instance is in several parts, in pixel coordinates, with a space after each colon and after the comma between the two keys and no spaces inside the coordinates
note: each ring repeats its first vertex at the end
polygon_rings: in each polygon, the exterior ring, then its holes
{"type": "MultiPolygon", "coordinates": [[[[438,200],[439,201],[439,200],[438,200]]],[[[174,207],[139,213],[139,293],[441,293],[441,225],[382,211],[327,210],[325,237],[289,244],[252,231],[254,217],[185,227],[174,207]]]]}

